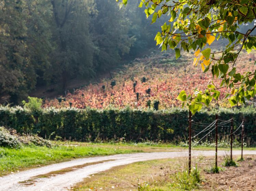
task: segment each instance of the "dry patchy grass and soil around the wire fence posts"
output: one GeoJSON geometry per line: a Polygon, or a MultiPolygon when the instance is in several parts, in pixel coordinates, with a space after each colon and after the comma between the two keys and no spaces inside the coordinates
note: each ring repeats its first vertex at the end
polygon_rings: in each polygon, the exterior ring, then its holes
{"type": "MultiPolygon", "coordinates": [[[[256,188],[255,176],[253,177],[256,170],[255,156],[245,156],[245,161],[239,162],[238,167],[224,167],[224,159],[225,157],[222,156],[218,160],[222,171],[219,174],[212,174],[210,169],[214,166],[214,157],[195,157],[191,176],[186,173],[187,158],[136,162],[91,175],[72,189],[73,191],[182,191],[238,190],[243,186],[249,190],[253,190],[252,187],[256,188]],[[247,179],[242,183],[238,181],[239,178],[246,177],[247,179]]],[[[235,159],[239,159],[239,156],[235,159]]]]}

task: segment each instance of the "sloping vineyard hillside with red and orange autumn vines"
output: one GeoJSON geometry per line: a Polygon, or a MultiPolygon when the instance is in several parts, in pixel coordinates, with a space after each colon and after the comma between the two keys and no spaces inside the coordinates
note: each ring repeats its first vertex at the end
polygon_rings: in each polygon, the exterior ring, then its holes
{"type": "MultiPolygon", "coordinates": [[[[236,63],[237,71],[254,71],[255,57],[255,52],[249,55],[241,53],[236,63]]],[[[153,107],[155,101],[159,101],[159,109],[181,106],[181,102],[176,100],[181,90],[190,93],[195,88],[204,90],[212,80],[211,72],[204,74],[199,65],[193,66],[193,59],[194,55],[187,53],[176,60],[172,52],[136,59],[115,73],[113,79],[102,79],[100,83],[68,93],[61,103],[60,99],[46,100],[44,107],[145,108],[153,107]],[[113,88],[112,82],[115,84],[113,88]]],[[[219,79],[213,81],[215,85],[221,82],[219,79]]],[[[223,98],[230,90],[222,88],[220,91],[223,98]]],[[[227,100],[214,104],[229,106],[227,100]]]]}

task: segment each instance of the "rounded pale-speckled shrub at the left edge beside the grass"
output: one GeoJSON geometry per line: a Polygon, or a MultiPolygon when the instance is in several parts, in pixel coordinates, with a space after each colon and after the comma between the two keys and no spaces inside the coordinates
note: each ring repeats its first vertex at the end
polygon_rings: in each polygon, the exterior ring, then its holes
{"type": "Polygon", "coordinates": [[[8,130],[0,127],[0,147],[18,148],[20,142],[16,136],[10,134],[8,130]]]}

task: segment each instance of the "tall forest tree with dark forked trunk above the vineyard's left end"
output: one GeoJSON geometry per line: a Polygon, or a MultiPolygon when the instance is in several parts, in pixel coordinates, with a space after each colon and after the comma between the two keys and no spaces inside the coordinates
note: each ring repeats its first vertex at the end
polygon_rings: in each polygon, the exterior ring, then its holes
{"type": "Polygon", "coordinates": [[[93,68],[94,45],[89,33],[92,0],[51,0],[55,26],[54,41],[58,48],[53,57],[53,72],[62,78],[62,91],[73,75],[90,75],[93,68]]]}

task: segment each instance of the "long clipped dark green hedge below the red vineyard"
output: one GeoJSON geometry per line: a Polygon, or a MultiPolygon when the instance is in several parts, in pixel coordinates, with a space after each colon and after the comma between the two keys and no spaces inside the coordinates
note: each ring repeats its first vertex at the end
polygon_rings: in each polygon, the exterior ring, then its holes
{"type": "MultiPolygon", "coordinates": [[[[193,120],[211,123],[216,114],[221,120],[233,117],[236,124],[240,124],[244,118],[247,144],[256,144],[255,108],[214,109],[197,113],[193,120]]],[[[48,108],[32,113],[21,107],[0,107],[0,125],[15,128],[19,133],[38,133],[51,139],[60,136],[94,141],[125,137],[127,141],[179,141],[186,140],[188,136],[188,111],[178,108],[161,111],[48,108]]],[[[195,131],[202,128],[193,126],[195,131]]]]}

